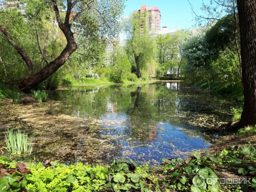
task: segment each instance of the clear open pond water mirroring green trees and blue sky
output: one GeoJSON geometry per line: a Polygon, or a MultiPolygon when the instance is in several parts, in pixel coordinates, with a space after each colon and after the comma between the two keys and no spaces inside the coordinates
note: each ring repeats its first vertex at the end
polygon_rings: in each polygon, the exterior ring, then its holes
{"type": "MultiPolygon", "coordinates": [[[[151,165],[160,163],[162,158],[185,157],[188,151],[209,147],[215,134],[206,136],[204,129],[189,125],[189,116],[185,118],[184,112],[226,119],[227,114],[221,111],[230,108],[208,94],[185,89],[179,82],[79,87],[52,93],[52,98],[66,104],[54,108],[55,113],[99,119],[102,125],[97,137],[109,136],[108,143],[114,146],[109,154],[151,165]]],[[[86,139],[79,142],[79,150],[88,145],[86,139]]],[[[102,159],[107,161],[108,157],[102,159]]]]}

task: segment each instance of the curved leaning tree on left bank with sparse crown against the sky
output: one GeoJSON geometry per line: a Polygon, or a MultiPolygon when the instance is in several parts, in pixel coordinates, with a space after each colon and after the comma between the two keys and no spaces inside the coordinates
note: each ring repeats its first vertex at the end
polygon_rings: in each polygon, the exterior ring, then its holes
{"type": "MultiPolygon", "coordinates": [[[[11,34],[9,26],[0,23],[0,31],[23,59],[28,69],[28,74],[13,85],[19,90],[27,90],[40,84],[65,64],[70,55],[79,47],[76,42],[78,37],[82,36],[83,41],[92,38],[116,37],[119,32],[118,20],[122,14],[124,2],[123,0],[21,0],[20,3],[26,5],[26,13],[28,14],[24,15],[25,22],[43,22],[40,14],[45,11],[55,14],[55,20],[51,20],[51,23],[61,30],[66,41],[63,50],[51,61],[47,61],[46,50],[40,47],[39,42],[39,40],[45,42],[47,39],[42,39],[35,32],[35,39],[29,41],[38,42],[42,60],[46,63],[46,65],[38,68],[35,67],[32,55],[23,49],[22,44],[17,43],[20,37],[11,34]]],[[[3,16],[4,12],[0,14],[3,16]]],[[[49,17],[45,18],[50,19],[49,17]]],[[[47,38],[49,39],[48,36],[47,38]]],[[[52,39],[54,40],[55,36],[52,39]]]]}

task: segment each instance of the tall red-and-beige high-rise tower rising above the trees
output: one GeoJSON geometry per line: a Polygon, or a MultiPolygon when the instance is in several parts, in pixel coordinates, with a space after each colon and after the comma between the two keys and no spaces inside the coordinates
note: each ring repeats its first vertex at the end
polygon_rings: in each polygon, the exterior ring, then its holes
{"type": "MultiPolygon", "coordinates": [[[[145,22],[148,24],[149,32],[157,32],[161,29],[161,12],[158,7],[140,6],[140,10],[134,13],[140,13],[140,18],[145,17],[145,22]]],[[[141,26],[143,29],[144,26],[141,26]]]]}

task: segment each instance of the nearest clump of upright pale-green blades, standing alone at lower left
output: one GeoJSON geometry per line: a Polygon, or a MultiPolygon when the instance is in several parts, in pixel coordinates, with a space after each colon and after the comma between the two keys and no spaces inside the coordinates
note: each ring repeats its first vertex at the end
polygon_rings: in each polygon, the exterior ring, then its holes
{"type": "Polygon", "coordinates": [[[5,135],[6,150],[12,155],[20,155],[31,153],[32,139],[30,139],[30,144],[28,145],[28,135],[21,133],[20,130],[13,132],[13,129],[8,129],[5,135]]]}

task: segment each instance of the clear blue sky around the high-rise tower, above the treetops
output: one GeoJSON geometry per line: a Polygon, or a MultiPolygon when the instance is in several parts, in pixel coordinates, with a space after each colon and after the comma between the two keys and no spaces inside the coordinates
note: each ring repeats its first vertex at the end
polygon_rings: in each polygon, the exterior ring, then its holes
{"type": "MultiPolygon", "coordinates": [[[[204,0],[206,3],[209,0],[204,0]]],[[[190,0],[194,11],[202,15],[202,0],[190,0]]],[[[194,15],[187,0],[127,0],[123,16],[129,16],[141,5],[157,6],[162,14],[161,26],[169,29],[189,29],[195,25],[194,15]]]]}

